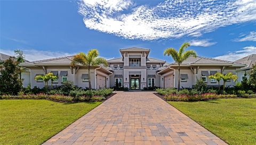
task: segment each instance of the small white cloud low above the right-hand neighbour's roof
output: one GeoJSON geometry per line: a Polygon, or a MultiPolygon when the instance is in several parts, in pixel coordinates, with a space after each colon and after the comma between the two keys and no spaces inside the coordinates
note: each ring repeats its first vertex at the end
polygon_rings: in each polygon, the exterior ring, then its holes
{"type": "Polygon", "coordinates": [[[255,53],[256,53],[256,47],[255,46],[247,46],[247,47],[244,47],[242,50],[229,52],[227,54],[215,57],[215,59],[235,61],[235,60],[244,58],[248,55],[255,54],[255,53]]]}

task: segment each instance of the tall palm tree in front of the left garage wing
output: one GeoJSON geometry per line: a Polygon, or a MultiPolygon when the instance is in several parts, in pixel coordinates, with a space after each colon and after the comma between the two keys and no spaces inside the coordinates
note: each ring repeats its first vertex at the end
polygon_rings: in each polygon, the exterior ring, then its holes
{"type": "Polygon", "coordinates": [[[91,77],[90,77],[90,69],[92,67],[98,66],[98,65],[104,65],[108,66],[107,60],[104,58],[98,58],[99,57],[99,51],[97,49],[93,49],[87,52],[87,54],[81,52],[76,54],[73,57],[72,65],[75,64],[81,64],[87,67],[88,69],[88,82],[89,82],[89,89],[92,88],[91,85],[91,77]]]}

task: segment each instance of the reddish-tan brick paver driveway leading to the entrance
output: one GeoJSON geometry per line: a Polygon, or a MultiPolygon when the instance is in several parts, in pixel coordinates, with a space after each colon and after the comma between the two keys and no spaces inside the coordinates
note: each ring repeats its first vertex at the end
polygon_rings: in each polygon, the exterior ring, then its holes
{"type": "Polygon", "coordinates": [[[153,92],[118,92],[44,144],[226,144],[153,92]]]}

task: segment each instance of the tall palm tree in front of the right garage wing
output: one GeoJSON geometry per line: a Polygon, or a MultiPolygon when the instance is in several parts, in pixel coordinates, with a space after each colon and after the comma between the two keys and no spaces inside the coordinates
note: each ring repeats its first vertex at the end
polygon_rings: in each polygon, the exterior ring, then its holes
{"type": "Polygon", "coordinates": [[[180,64],[190,56],[194,56],[196,58],[196,52],[194,50],[185,51],[185,49],[187,49],[189,46],[189,43],[183,43],[179,49],[179,52],[174,48],[169,48],[164,51],[164,55],[171,55],[173,60],[178,63],[178,91],[180,90],[180,64]]]}

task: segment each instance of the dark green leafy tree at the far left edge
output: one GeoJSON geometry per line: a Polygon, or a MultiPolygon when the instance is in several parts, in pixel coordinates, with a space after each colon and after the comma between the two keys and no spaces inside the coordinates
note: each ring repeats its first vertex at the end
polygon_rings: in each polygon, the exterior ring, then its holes
{"type": "Polygon", "coordinates": [[[20,67],[14,57],[0,62],[0,94],[18,94],[22,88],[20,67]]]}

